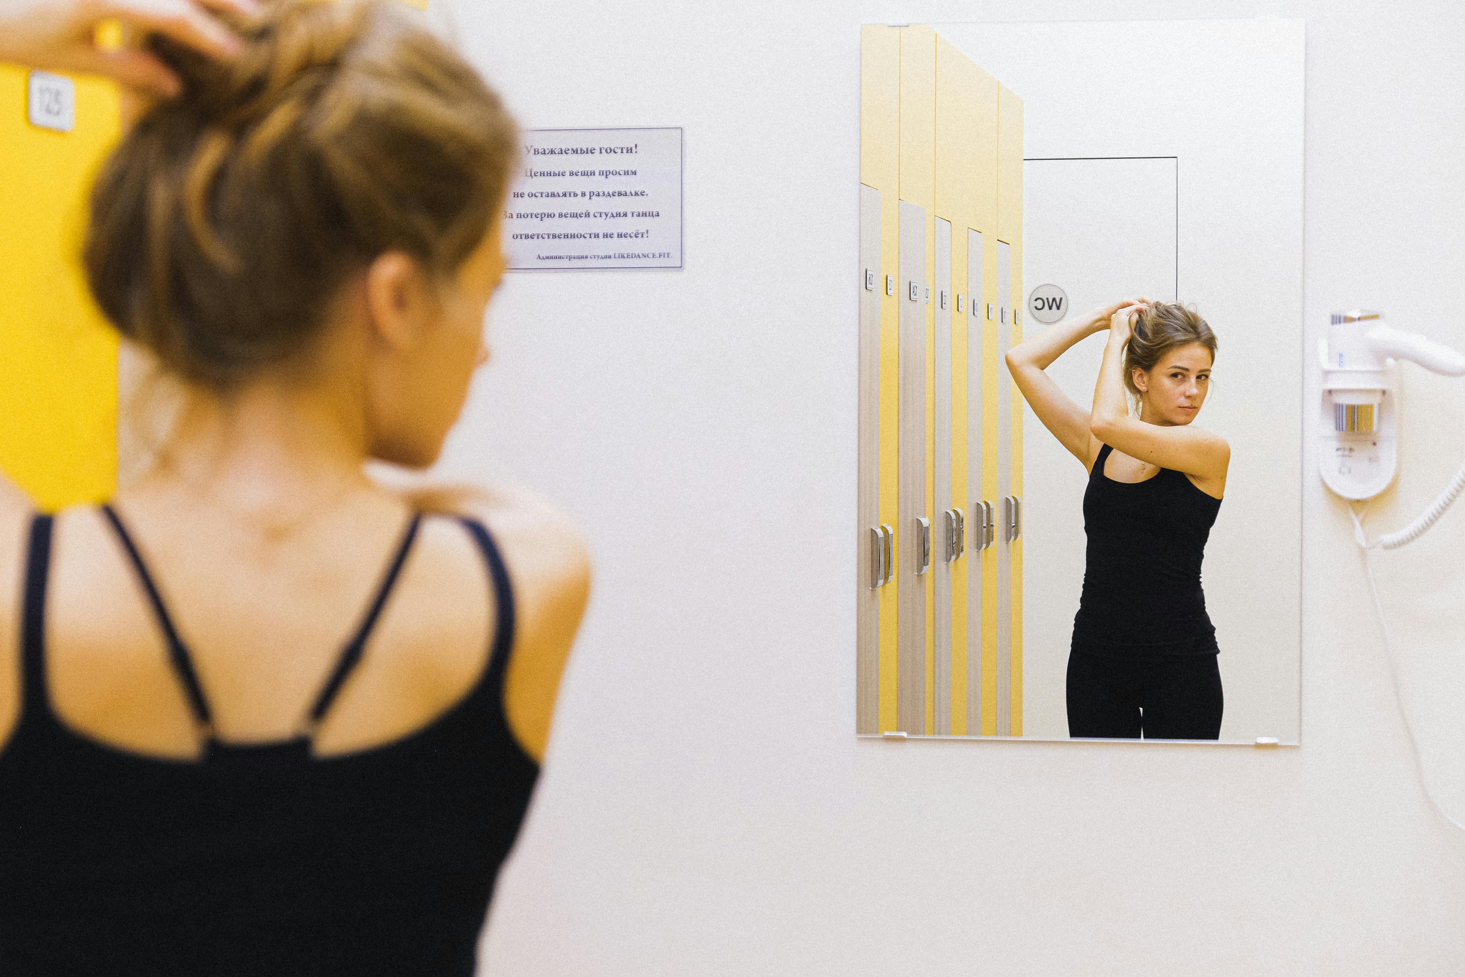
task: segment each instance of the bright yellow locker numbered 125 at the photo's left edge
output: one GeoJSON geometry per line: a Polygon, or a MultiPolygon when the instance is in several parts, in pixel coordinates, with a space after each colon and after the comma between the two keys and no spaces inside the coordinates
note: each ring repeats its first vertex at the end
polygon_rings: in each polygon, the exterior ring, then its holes
{"type": "Polygon", "coordinates": [[[86,193],[119,135],[117,89],[76,78],[70,132],[32,126],[29,72],[0,64],[0,469],[47,510],[117,473],[117,335],[81,271],[86,193]]]}

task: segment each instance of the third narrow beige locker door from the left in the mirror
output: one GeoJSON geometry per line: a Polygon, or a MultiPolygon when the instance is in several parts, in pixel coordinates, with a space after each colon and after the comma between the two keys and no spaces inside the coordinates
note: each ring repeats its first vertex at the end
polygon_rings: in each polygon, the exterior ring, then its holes
{"type": "Polygon", "coordinates": [[[957,555],[957,524],[951,498],[951,221],[936,218],[936,268],[930,287],[930,303],[936,311],[936,417],[935,454],[935,519],[932,532],[936,552],[932,573],[936,574],[935,598],[935,658],[936,658],[936,716],[932,732],[951,735],[951,561],[957,555]]]}

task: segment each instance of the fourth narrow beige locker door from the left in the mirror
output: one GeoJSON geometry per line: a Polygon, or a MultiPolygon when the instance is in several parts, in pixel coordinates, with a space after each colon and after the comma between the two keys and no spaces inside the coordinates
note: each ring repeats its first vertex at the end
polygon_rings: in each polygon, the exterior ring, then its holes
{"type": "Polygon", "coordinates": [[[982,732],[982,561],[992,539],[993,507],[982,497],[982,340],[986,328],[982,231],[967,230],[967,729],[982,732]]]}

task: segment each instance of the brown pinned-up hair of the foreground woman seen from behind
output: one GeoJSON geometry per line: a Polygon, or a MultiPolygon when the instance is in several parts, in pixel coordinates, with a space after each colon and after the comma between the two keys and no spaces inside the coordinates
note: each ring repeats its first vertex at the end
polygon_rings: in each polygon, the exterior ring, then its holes
{"type": "Polygon", "coordinates": [[[451,48],[381,0],[275,0],[214,62],[166,38],[183,95],[92,189],[92,294],[183,379],[227,390],[292,360],[387,250],[432,274],[488,233],[514,123],[451,48]]]}

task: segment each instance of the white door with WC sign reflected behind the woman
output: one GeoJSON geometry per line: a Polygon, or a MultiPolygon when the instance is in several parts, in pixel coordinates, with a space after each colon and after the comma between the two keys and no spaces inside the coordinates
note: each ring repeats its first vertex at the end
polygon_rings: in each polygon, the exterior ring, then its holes
{"type": "MultiPolygon", "coordinates": [[[[1067,296],[1065,318],[1128,297],[1178,300],[1178,168],[1175,157],[1024,161],[1024,337],[1047,328],[1033,308],[1042,286],[1067,296]]],[[[1047,369],[1084,407],[1093,403],[1103,346],[1103,334],[1091,335],[1047,369]]],[[[1023,454],[1023,727],[1027,737],[1062,738],[1068,643],[1084,580],[1087,479],[1030,410],[1023,454]]]]}

